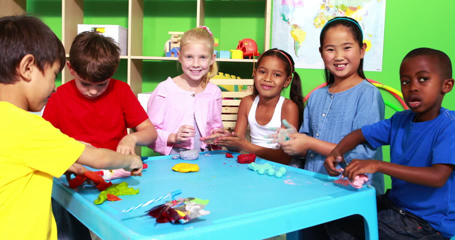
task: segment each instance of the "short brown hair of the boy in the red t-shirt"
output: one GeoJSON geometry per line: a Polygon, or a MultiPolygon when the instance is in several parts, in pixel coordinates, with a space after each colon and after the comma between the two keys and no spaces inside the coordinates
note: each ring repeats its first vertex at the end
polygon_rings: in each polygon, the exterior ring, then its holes
{"type": "Polygon", "coordinates": [[[69,63],[82,79],[101,82],[117,70],[120,48],[115,41],[97,32],[77,34],[69,49],[69,63]]]}

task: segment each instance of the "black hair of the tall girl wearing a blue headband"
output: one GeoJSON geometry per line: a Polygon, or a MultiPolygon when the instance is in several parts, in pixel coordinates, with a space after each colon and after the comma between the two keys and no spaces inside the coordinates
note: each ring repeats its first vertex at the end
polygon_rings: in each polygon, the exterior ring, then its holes
{"type": "MultiPolygon", "coordinates": [[[[358,46],[360,48],[362,48],[363,33],[362,33],[362,30],[361,30],[358,22],[355,19],[347,17],[347,16],[337,16],[337,17],[330,19],[324,25],[324,27],[322,27],[322,30],[321,30],[320,36],[319,36],[319,44],[321,47],[320,50],[322,50],[322,44],[324,43],[324,38],[325,38],[325,34],[326,34],[327,30],[330,29],[331,27],[338,26],[338,25],[342,25],[342,26],[346,27],[347,29],[349,29],[350,32],[352,33],[352,36],[357,41],[358,46]]],[[[363,58],[360,59],[360,63],[358,64],[357,74],[363,79],[366,78],[365,74],[363,73],[363,58]]],[[[327,83],[327,85],[331,84],[335,81],[335,77],[326,67],[324,67],[324,76],[325,76],[325,82],[327,83]]]]}

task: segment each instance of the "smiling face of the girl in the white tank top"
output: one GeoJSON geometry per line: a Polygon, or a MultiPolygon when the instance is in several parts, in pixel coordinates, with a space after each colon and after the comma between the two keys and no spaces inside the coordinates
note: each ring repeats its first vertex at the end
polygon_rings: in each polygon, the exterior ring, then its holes
{"type": "Polygon", "coordinates": [[[254,86],[260,96],[279,96],[283,87],[291,80],[281,59],[276,56],[263,56],[254,72],[254,86]]]}

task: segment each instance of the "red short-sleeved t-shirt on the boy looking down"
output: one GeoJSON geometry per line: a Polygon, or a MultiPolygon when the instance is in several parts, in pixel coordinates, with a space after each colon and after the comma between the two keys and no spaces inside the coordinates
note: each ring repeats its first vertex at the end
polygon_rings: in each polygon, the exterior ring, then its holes
{"type": "Polygon", "coordinates": [[[111,150],[127,134],[126,128],[148,118],[129,85],[113,78],[94,99],[83,96],[74,80],[66,82],[49,98],[42,117],[76,140],[111,150]]]}

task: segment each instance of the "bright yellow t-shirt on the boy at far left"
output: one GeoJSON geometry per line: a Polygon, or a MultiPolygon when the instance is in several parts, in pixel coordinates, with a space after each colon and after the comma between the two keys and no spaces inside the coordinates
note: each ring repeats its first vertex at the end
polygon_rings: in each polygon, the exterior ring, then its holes
{"type": "Polygon", "coordinates": [[[85,146],[5,101],[0,134],[0,239],[57,239],[52,176],[61,176],[85,146]]]}

